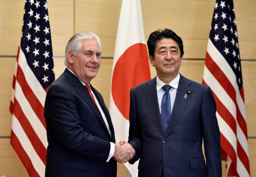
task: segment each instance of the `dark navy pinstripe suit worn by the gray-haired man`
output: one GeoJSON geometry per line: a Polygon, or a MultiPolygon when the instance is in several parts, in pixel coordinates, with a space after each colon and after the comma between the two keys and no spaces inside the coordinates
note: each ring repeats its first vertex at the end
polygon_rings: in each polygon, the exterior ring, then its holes
{"type": "Polygon", "coordinates": [[[45,176],[116,176],[113,158],[106,162],[115,134],[100,93],[91,86],[108,120],[106,124],[80,80],[67,68],[49,88],[44,116],[47,126],[45,176]]]}

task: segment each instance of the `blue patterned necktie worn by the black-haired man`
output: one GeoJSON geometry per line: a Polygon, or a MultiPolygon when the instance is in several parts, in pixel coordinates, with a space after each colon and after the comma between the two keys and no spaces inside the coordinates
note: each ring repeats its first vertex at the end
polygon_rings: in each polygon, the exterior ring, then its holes
{"type": "Polygon", "coordinates": [[[166,131],[166,128],[168,126],[168,122],[171,118],[171,96],[169,93],[169,90],[172,88],[170,85],[164,85],[162,89],[165,90],[165,93],[163,95],[162,99],[162,109],[161,109],[161,120],[164,132],[166,131]]]}

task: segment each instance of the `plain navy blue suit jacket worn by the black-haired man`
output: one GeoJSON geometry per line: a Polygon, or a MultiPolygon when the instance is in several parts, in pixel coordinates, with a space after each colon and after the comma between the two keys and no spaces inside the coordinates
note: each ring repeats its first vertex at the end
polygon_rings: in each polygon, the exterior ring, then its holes
{"type": "Polygon", "coordinates": [[[139,177],[160,177],[162,171],[164,177],[222,176],[220,131],[215,113],[210,88],[180,75],[171,119],[164,133],[156,78],[132,88],[128,142],[136,154],[129,163],[140,158],[139,177]]]}

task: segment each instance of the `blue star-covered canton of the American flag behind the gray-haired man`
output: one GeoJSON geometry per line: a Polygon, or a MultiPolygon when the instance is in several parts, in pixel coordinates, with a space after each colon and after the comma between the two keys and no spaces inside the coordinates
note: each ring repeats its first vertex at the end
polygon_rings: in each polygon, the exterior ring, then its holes
{"type": "Polygon", "coordinates": [[[55,80],[46,0],[28,0],[24,8],[20,48],[44,89],[55,80]]]}

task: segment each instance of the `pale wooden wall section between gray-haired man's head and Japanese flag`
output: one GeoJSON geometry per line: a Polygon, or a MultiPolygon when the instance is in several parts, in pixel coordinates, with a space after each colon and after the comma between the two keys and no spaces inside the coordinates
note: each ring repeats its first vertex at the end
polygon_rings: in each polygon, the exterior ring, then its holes
{"type": "Polygon", "coordinates": [[[75,32],[90,31],[98,35],[104,57],[114,55],[120,7],[119,0],[75,0],[75,32]]]}

